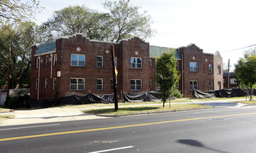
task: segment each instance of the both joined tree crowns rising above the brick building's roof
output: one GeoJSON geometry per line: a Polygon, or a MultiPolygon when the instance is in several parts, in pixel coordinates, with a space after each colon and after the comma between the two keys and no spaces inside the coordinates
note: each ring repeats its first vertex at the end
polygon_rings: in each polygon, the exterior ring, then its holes
{"type": "Polygon", "coordinates": [[[131,36],[147,39],[155,33],[151,29],[151,17],[139,7],[129,5],[130,0],[104,2],[109,13],[101,13],[82,6],[69,6],[55,11],[53,17],[40,27],[45,42],[53,41],[60,36],[71,36],[82,33],[90,39],[118,42],[131,36]]]}

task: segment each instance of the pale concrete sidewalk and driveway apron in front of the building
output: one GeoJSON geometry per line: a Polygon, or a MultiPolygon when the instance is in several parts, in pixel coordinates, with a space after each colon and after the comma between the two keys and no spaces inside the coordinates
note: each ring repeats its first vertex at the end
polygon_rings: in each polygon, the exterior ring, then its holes
{"type": "MultiPolygon", "coordinates": [[[[177,104],[199,104],[199,105],[210,105],[214,108],[219,107],[242,107],[245,104],[234,103],[232,101],[237,101],[238,99],[230,100],[213,100],[213,101],[187,101],[187,102],[174,102],[171,105],[177,104]]],[[[154,106],[162,105],[162,103],[157,104],[145,104],[145,105],[125,105],[120,106],[119,108],[125,107],[139,107],[139,106],[154,106]]],[[[166,102],[168,105],[168,101],[166,102]]],[[[0,123],[0,126],[10,126],[10,125],[21,125],[21,124],[30,124],[30,123],[50,123],[50,122],[61,122],[69,120],[91,120],[99,117],[92,114],[85,114],[82,111],[88,109],[96,109],[97,107],[91,108],[43,108],[43,109],[34,109],[34,110],[17,110],[14,112],[0,112],[0,115],[14,115],[14,119],[4,120],[0,123]]],[[[113,108],[110,106],[101,107],[101,108],[113,108]]]]}

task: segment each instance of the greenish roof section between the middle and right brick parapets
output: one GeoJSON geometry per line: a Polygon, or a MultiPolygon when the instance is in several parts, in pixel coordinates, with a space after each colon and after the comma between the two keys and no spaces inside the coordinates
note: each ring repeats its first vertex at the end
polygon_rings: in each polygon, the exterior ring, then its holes
{"type": "Polygon", "coordinates": [[[175,59],[181,60],[181,55],[178,54],[178,49],[168,48],[168,47],[159,47],[155,45],[149,45],[149,57],[156,58],[162,55],[163,52],[175,52],[175,59]]]}

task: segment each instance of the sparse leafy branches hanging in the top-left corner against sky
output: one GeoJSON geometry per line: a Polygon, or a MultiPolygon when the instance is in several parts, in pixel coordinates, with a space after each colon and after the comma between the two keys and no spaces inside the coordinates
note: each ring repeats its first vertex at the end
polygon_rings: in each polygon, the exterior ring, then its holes
{"type": "Polygon", "coordinates": [[[38,0],[29,0],[28,2],[22,0],[1,0],[0,21],[2,22],[4,19],[27,20],[33,17],[37,9],[42,9],[38,0]]]}

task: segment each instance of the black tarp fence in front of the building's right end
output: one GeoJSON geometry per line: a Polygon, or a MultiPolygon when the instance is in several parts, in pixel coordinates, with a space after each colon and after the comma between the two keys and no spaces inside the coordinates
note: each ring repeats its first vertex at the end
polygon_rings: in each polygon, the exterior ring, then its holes
{"type": "MultiPolygon", "coordinates": [[[[248,96],[249,89],[221,89],[212,91],[199,91],[194,89],[194,98],[230,98],[248,96]]],[[[256,95],[256,89],[253,89],[252,95],[256,95]]]]}

